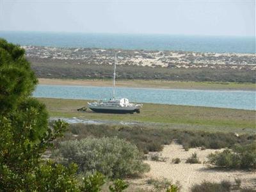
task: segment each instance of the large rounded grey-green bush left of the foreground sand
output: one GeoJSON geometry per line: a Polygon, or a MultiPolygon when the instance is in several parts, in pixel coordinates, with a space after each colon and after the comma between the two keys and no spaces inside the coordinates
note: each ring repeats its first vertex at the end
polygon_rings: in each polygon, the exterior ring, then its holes
{"type": "Polygon", "coordinates": [[[61,161],[77,163],[84,173],[98,171],[108,177],[121,178],[146,170],[136,145],[118,138],[64,141],[59,148],[61,161]]]}

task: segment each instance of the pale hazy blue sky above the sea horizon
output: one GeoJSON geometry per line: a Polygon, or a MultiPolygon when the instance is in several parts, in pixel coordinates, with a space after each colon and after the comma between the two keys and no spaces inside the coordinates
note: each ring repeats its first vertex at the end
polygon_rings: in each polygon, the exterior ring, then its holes
{"type": "Polygon", "coordinates": [[[0,31],[255,36],[255,0],[0,0],[0,31]]]}

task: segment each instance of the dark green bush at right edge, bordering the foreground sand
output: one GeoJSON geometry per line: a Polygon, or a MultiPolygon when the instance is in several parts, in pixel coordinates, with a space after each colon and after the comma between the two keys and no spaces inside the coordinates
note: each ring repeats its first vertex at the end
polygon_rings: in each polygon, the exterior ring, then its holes
{"type": "Polygon", "coordinates": [[[255,169],[256,168],[256,143],[249,145],[236,145],[232,150],[225,149],[208,156],[209,163],[223,168],[255,169]]]}

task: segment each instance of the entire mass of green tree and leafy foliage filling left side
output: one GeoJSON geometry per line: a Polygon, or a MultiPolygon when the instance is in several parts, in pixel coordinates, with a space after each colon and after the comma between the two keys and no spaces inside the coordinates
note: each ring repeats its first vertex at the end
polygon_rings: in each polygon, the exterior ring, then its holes
{"type": "Polygon", "coordinates": [[[102,174],[79,182],[76,164],[42,158],[67,123],[48,125],[44,104],[31,97],[37,79],[24,53],[19,45],[0,39],[0,192],[100,189],[102,174]]]}

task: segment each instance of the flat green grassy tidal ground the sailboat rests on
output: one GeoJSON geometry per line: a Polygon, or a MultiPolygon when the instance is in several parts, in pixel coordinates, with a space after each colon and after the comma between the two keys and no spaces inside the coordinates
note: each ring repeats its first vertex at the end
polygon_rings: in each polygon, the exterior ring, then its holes
{"type": "Polygon", "coordinates": [[[52,117],[79,117],[92,120],[144,122],[162,124],[174,128],[188,127],[207,131],[255,131],[255,111],[243,109],[175,106],[166,104],[143,104],[141,113],[109,114],[77,112],[88,100],[40,98],[52,117]]]}

